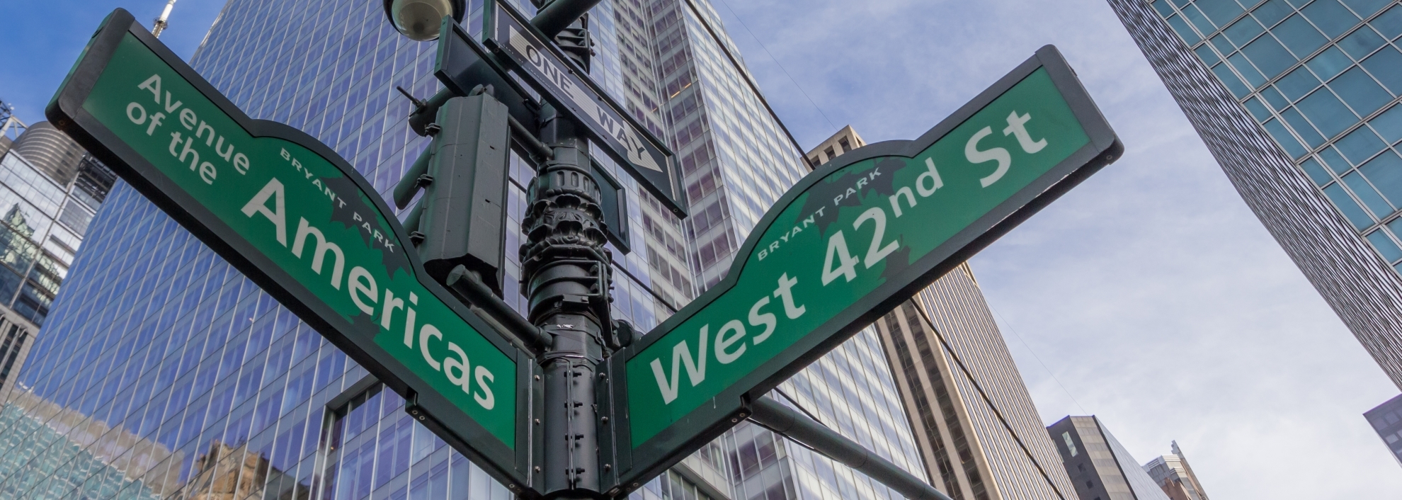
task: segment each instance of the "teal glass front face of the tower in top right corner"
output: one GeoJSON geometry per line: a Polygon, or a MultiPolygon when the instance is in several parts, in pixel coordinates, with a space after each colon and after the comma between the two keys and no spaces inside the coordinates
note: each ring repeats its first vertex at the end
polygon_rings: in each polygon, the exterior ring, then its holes
{"type": "Polygon", "coordinates": [[[1158,0],[1154,8],[1402,272],[1402,6],[1158,0]]]}

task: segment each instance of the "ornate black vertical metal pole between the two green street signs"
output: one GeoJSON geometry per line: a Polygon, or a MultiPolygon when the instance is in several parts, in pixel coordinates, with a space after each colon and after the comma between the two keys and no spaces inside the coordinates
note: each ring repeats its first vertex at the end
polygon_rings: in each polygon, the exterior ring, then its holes
{"type": "Polygon", "coordinates": [[[611,256],[604,248],[599,186],[586,141],[550,105],[541,109],[541,141],[554,148],[527,188],[520,249],[527,318],[551,338],[545,374],[545,497],[599,496],[599,415],[594,385],[608,335],[611,256]]]}

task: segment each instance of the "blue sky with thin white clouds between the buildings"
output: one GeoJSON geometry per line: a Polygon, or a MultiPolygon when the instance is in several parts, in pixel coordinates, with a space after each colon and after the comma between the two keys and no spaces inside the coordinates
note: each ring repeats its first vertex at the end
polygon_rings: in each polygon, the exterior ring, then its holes
{"type": "MultiPolygon", "coordinates": [[[[972,261],[1043,420],[1098,415],[1141,462],[1178,440],[1217,499],[1402,490],[1361,417],[1396,387],[1246,209],[1103,0],[712,1],[808,146],[844,125],[914,139],[1057,45],[1127,151],[972,261]]],[[[42,120],[108,11],[149,24],[163,6],[7,1],[0,99],[42,120]]],[[[163,41],[193,55],[222,7],[181,0],[163,41]]]]}

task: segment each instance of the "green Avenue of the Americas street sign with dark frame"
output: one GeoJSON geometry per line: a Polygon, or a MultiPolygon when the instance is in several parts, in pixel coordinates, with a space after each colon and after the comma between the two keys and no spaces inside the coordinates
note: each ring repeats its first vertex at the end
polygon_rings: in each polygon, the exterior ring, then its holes
{"type": "Polygon", "coordinates": [[[394,213],[331,148],[250,119],[125,10],[46,115],[523,490],[536,363],[428,277],[394,213]]]}

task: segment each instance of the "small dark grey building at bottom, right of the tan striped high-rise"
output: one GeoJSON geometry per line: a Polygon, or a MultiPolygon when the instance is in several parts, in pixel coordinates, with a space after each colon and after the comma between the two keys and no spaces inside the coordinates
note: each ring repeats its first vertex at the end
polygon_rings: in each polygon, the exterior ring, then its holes
{"type": "Polygon", "coordinates": [[[1101,419],[1067,416],[1047,433],[1081,500],[1168,500],[1101,419]]]}

